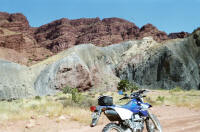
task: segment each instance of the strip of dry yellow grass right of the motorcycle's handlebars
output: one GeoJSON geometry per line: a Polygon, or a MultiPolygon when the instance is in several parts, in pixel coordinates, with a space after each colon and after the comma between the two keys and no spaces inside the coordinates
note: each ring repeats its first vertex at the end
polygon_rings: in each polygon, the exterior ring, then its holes
{"type": "Polygon", "coordinates": [[[200,91],[184,91],[179,88],[173,90],[153,90],[148,94],[147,102],[154,105],[172,105],[200,109],[200,91]]]}

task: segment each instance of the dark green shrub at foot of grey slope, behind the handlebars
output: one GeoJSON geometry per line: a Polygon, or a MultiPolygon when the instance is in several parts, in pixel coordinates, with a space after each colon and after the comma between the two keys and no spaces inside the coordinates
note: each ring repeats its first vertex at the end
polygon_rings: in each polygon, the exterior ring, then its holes
{"type": "Polygon", "coordinates": [[[126,92],[129,90],[131,90],[131,91],[138,90],[139,87],[134,85],[133,83],[129,82],[128,80],[121,80],[118,83],[117,89],[126,92]]]}

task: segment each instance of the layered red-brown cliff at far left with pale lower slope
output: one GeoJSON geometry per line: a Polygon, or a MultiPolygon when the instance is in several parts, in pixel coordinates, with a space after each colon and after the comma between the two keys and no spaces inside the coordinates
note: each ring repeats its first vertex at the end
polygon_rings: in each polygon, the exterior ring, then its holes
{"type": "Polygon", "coordinates": [[[37,44],[34,31],[23,14],[0,12],[0,58],[31,65],[51,56],[50,51],[37,44]],[[8,51],[10,57],[6,56],[8,51]]]}

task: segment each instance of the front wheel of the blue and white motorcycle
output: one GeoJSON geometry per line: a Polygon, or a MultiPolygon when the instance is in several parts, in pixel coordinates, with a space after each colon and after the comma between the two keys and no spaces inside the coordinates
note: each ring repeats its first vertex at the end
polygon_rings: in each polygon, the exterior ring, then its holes
{"type": "Polygon", "coordinates": [[[160,121],[154,114],[150,114],[149,118],[146,119],[147,132],[162,132],[160,121]]]}

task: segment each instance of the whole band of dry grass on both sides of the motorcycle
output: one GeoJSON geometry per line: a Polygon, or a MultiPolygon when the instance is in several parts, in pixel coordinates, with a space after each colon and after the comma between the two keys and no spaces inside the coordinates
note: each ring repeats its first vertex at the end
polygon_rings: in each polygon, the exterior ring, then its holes
{"type": "MultiPolygon", "coordinates": [[[[78,102],[73,102],[70,94],[58,93],[55,96],[44,96],[29,99],[0,101],[0,122],[5,120],[24,120],[31,116],[48,116],[49,118],[67,115],[71,120],[84,124],[91,121],[89,107],[97,105],[97,98],[102,93],[82,93],[78,102]]],[[[113,96],[115,104],[125,104],[127,100],[117,92],[107,92],[104,95],[113,96]]],[[[174,105],[200,109],[200,91],[191,90],[152,90],[145,99],[152,105],[174,105]]]]}

